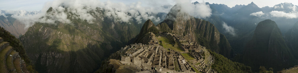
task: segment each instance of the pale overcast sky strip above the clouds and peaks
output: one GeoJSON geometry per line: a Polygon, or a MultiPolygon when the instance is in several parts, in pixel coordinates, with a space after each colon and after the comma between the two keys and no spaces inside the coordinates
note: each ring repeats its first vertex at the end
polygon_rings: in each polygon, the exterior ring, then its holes
{"type": "MultiPolygon", "coordinates": [[[[46,2],[53,0],[0,0],[0,10],[41,10],[46,2]]],[[[100,0],[107,1],[107,0],[100,0]]],[[[175,0],[110,0],[112,2],[122,2],[125,4],[130,4],[133,2],[140,1],[144,6],[150,5],[174,5],[175,0]]],[[[199,3],[203,0],[192,0],[192,2],[198,1],[199,3]]],[[[229,7],[234,7],[236,4],[247,5],[251,2],[257,4],[258,7],[273,7],[276,4],[288,2],[298,5],[298,0],[204,0],[204,2],[209,2],[210,4],[226,4],[229,7]]]]}

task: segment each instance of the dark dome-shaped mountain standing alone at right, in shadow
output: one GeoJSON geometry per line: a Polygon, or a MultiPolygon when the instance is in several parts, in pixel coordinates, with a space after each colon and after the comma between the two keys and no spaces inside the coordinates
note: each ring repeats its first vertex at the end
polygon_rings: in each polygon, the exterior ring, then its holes
{"type": "Polygon", "coordinates": [[[257,71],[259,66],[281,70],[294,65],[294,57],[272,20],[258,23],[253,38],[246,44],[242,61],[253,71],[257,71]]]}

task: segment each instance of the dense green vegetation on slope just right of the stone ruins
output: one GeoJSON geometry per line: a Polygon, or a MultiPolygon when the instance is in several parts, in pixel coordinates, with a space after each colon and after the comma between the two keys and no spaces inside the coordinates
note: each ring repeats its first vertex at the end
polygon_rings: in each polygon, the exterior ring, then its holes
{"type": "Polygon", "coordinates": [[[218,73],[252,73],[251,67],[245,66],[244,64],[238,62],[233,62],[211,50],[208,51],[214,57],[212,69],[218,73]]]}

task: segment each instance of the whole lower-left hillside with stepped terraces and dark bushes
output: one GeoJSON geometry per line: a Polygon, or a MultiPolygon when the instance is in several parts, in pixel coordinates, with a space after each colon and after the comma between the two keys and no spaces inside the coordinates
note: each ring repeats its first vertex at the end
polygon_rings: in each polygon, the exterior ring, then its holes
{"type": "MultiPolygon", "coordinates": [[[[15,36],[11,35],[10,32],[8,32],[7,30],[5,30],[3,27],[0,27],[0,43],[1,43],[1,47],[0,47],[0,54],[1,56],[6,55],[5,58],[1,57],[1,71],[5,71],[3,69],[7,70],[13,70],[16,69],[17,72],[30,72],[30,73],[38,73],[37,71],[35,71],[35,67],[32,66],[31,61],[29,60],[29,57],[27,56],[24,47],[22,46],[20,40],[18,40],[17,38],[15,38],[15,36]],[[5,47],[7,46],[7,47],[5,47]],[[10,50],[7,50],[7,49],[10,50]],[[6,51],[3,52],[3,51],[6,51]],[[11,51],[9,53],[9,51],[11,51]],[[12,55],[11,57],[9,55],[12,55]],[[9,62],[9,60],[12,60],[9,62]],[[5,62],[7,61],[7,62],[5,62]],[[3,63],[5,62],[5,63],[3,63]],[[12,63],[10,64],[9,63],[12,63]],[[3,64],[7,64],[6,68],[3,68],[3,64]],[[18,67],[21,66],[21,67],[18,67]]],[[[13,72],[13,71],[10,71],[13,72]]],[[[4,73],[4,72],[3,72],[4,73]]]]}

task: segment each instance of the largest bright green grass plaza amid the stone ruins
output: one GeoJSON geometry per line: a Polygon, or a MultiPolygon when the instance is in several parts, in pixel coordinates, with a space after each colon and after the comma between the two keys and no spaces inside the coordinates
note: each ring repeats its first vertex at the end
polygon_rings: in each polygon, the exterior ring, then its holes
{"type": "Polygon", "coordinates": [[[158,40],[162,40],[162,46],[164,48],[170,48],[174,51],[178,51],[178,52],[184,52],[181,48],[179,47],[174,47],[174,45],[171,44],[170,40],[167,39],[166,37],[160,37],[160,38],[157,38],[158,40]],[[168,43],[168,44],[166,44],[168,43]]]}

